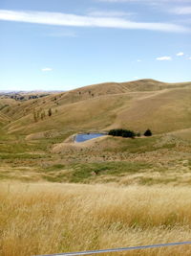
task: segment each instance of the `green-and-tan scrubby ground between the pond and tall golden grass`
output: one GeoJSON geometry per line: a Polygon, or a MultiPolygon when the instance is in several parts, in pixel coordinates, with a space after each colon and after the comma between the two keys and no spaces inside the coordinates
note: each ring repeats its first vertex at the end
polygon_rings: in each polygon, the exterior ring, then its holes
{"type": "MultiPolygon", "coordinates": [[[[68,134],[69,135],[69,134],[68,134]]],[[[175,135],[123,139],[106,136],[83,145],[68,136],[0,139],[0,179],[78,183],[191,183],[191,144],[175,135]]]]}

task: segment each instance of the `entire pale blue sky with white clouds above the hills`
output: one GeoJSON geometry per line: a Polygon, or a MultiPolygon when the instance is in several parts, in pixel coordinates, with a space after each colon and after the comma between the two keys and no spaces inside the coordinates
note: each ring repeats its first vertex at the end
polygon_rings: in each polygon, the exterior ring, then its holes
{"type": "Polygon", "coordinates": [[[0,90],[191,81],[191,0],[0,0],[0,90]]]}

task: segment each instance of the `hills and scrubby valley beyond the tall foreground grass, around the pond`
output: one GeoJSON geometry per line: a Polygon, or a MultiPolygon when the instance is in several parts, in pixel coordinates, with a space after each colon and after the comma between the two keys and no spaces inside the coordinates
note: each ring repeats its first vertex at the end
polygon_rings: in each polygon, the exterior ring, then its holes
{"type": "Polygon", "coordinates": [[[190,184],[190,85],[144,80],[90,85],[24,102],[1,98],[0,178],[190,184]],[[154,136],[104,136],[80,145],[65,141],[80,131],[110,128],[141,134],[150,128],[154,136]]]}

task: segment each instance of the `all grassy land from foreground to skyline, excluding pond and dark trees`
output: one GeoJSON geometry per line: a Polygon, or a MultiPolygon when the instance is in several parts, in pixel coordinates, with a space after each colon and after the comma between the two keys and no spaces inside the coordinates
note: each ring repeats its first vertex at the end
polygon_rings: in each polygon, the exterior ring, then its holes
{"type": "MultiPolygon", "coordinates": [[[[112,82],[0,98],[0,255],[191,240],[190,84],[112,82]],[[110,128],[154,135],[71,139],[110,128]]],[[[114,255],[191,255],[191,246],[114,255]]]]}

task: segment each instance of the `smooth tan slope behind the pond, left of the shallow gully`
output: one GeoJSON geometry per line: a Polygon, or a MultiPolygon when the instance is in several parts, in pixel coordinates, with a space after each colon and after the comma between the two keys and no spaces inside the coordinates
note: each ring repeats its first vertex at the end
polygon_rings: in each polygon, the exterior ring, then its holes
{"type": "MultiPolygon", "coordinates": [[[[74,104],[53,108],[53,116],[35,123],[32,114],[18,119],[8,127],[11,132],[21,130],[25,134],[46,129],[106,128],[116,117],[117,107],[126,100],[120,96],[102,96],[74,104]]],[[[52,106],[53,107],[53,106],[52,106]]],[[[48,109],[48,107],[47,107],[48,109]]],[[[19,131],[20,132],[20,131],[19,131]]]]}

